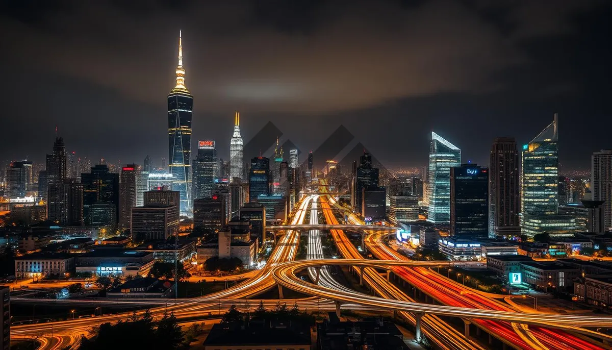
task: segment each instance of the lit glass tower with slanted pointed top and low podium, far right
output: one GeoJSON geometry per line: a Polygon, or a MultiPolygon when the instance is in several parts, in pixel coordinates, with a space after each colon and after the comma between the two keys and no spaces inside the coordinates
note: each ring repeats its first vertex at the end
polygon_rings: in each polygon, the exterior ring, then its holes
{"type": "Polygon", "coordinates": [[[523,198],[521,232],[533,238],[572,236],[575,218],[559,214],[558,116],[535,138],[523,145],[523,198]]]}

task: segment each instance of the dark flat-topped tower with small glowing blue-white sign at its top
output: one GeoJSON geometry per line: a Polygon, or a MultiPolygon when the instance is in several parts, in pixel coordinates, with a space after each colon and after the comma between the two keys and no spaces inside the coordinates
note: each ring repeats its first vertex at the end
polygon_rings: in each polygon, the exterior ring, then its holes
{"type": "Polygon", "coordinates": [[[450,235],[461,238],[489,236],[487,168],[462,164],[450,168],[450,235]]]}

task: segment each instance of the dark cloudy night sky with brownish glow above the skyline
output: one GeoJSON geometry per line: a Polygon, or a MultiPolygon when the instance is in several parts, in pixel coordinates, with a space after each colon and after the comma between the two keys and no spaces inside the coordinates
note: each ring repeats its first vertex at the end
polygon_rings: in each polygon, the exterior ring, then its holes
{"type": "MultiPolygon", "coordinates": [[[[387,168],[433,130],[488,163],[559,113],[562,169],[612,148],[610,1],[2,1],[0,160],[168,157],[179,29],[193,144],[268,121],[302,151],[345,125],[387,168]],[[52,4],[53,3],[53,4],[52,4]]],[[[95,162],[94,162],[95,163],[95,162]]]]}

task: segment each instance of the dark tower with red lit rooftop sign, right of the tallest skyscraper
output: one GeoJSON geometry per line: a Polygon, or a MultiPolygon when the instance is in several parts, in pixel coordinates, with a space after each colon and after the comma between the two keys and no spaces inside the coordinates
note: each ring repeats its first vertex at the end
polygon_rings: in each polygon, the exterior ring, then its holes
{"type": "Polygon", "coordinates": [[[218,174],[217,165],[215,141],[199,141],[198,156],[193,160],[193,198],[211,198],[218,174]]]}

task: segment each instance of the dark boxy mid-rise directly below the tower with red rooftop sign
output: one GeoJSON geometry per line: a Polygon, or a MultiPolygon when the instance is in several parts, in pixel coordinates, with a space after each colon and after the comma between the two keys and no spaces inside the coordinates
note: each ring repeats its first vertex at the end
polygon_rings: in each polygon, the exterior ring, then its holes
{"type": "Polygon", "coordinates": [[[205,232],[222,229],[229,221],[225,206],[226,201],[216,194],[210,198],[193,199],[193,228],[205,232]]]}

